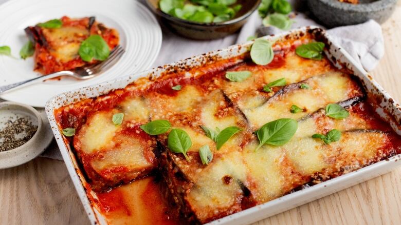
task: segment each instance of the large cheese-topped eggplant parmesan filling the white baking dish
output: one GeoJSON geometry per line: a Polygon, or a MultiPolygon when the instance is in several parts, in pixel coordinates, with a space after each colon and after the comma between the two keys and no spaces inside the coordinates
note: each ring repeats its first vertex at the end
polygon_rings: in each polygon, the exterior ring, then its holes
{"type": "Polygon", "coordinates": [[[103,198],[110,188],[155,176],[169,218],[207,223],[401,151],[399,136],[376,115],[375,101],[353,74],[326,57],[306,59],[295,53],[309,42],[309,33],[278,40],[266,66],[244,54],[183,73],[140,78],[124,89],[61,107],[55,115],[60,129],[76,130],[65,140],[90,188],[103,198]],[[251,75],[234,82],[227,71],[251,75]],[[286,84],[264,89],[278,79],[286,84]],[[330,105],[346,116],[330,116],[330,105]],[[116,125],[113,116],[118,113],[124,119],[116,125]],[[258,132],[281,118],[296,121],[293,136],[282,145],[259,145],[258,132]],[[156,120],[167,120],[171,129],[158,135],[145,132],[142,125],[156,120]],[[237,130],[223,144],[219,135],[211,135],[230,127],[237,130]],[[185,155],[170,145],[172,128],[190,139],[185,155]],[[324,139],[333,130],[339,137],[324,139]],[[213,156],[208,163],[199,156],[204,146],[213,156]]]}

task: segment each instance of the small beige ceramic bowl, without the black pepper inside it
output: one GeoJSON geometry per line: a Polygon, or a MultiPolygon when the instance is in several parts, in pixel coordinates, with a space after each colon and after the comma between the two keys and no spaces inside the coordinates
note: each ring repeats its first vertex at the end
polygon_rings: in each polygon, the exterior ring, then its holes
{"type": "MultiPolygon", "coordinates": [[[[21,165],[41,154],[49,144],[45,130],[49,129],[43,123],[42,116],[34,108],[10,101],[0,103],[0,125],[7,120],[24,117],[31,121],[32,125],[38,126],[35,134],[20,147],[8,151],[0,152],[0,169],[21,165]]],[[[2,129],[2,127],[0,127],[2,129]]]]}

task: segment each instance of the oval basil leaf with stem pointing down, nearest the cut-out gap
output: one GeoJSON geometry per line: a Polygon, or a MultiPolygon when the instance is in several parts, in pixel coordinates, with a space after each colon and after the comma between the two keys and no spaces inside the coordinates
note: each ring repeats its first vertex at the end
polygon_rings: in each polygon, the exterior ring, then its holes
{"type": "Polygon", "coordinates": [[[167,147],[174,153],[183,153],[189,161],[187,151],[192,146],[192,141],[187,132],[181,129],[173,129],[167,138],[167,147]]]}

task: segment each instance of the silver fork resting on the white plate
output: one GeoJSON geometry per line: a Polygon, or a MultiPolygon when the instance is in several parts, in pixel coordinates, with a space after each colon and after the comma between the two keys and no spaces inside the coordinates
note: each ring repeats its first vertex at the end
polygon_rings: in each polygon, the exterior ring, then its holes
{"type": "Polygon", "coordinates": [[[111,52],[110,55],[101,63],[96,65],[88,66],[88,67],[80,67],[76,68],[75,70],[65,70],[56,73],[50,73],[44,76],[35,77],[33,79],[28,79],[24,81],[20,81],[14,84],[0,86],[0,94],[11,90],[16,87],[26,86],[34,83],[38,83],[40,81],[44,81],[46,79],[55,78],[59,76],[72,76],[76,79],[85,80],[90,79],[92,77],[97,76],[101,71],[104,71],[111,66],[113,66],[117,60],[122,56],[125,50],[120,46],[117,45],[111,52]]]}

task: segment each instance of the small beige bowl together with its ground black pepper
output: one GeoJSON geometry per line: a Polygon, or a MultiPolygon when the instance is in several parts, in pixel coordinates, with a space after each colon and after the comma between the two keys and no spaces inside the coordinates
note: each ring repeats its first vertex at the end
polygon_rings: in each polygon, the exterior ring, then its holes
{"type": "Polygon", "coordinates": [[[0,103],[0,169],[21,165],[41,154],[43,121],[34,108],[0,103]]]}

